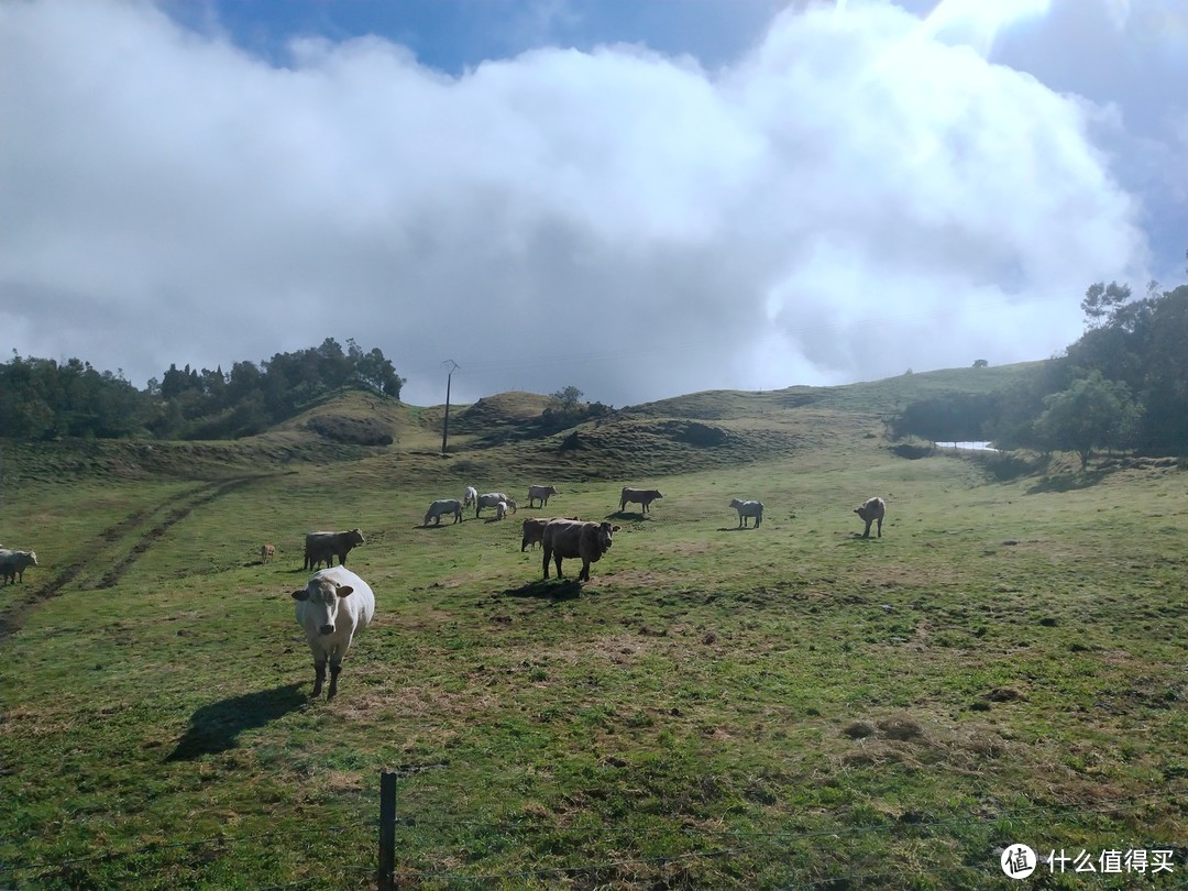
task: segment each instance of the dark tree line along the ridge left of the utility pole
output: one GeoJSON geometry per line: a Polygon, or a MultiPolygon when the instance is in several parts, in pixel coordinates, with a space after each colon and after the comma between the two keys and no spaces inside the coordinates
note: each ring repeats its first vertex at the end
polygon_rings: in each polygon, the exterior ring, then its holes
{"type": "Polygon", "coordinates": [[[70,359],[21,358],[0,365],[0,436],[221,440],[263,432],[342,388],[400,398],[404,379],[377,347],[333,337],[277,353],[259,365],[201,371],[170,365],[139,390],[124,373],[70,359]]]}

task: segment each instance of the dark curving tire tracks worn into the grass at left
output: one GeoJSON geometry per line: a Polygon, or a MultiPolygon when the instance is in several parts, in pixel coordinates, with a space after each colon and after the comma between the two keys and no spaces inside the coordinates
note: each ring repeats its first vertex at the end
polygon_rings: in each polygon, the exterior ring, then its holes
{"type": "Polygon", "coordinates": [[[181,499],[170,498],[156,507],[135,511],[119,523],[108,526],[97,536],[100,544],[87,550],[71,563],[68,563],[46,584],[0,611],[0,643],[4,643],[20,631],[25,624],[25,618],[32,609],[57,596],[63,588],[72,583],[96,563],[106,563],[109,569],[93,584],[82,586],[83,590],[103,590],[115,586],[135,564],[140,555],[145,554],[172,526],[184,520],[195,510],[210,504],[228,492],[276,475],[252,474],[251,476],[236,476],[230,480],[207,482],[182,495],[181,499]],[[164,517],[162,517],[163,513],[164,517]],[[158,517],[162,517],[159,522],[154,522],[158,517]],[[126,543],[132,536],[138,536],[138,541],[132,546],[132,550],[127,554],[115,554],[119,545],[126,543]]]}

